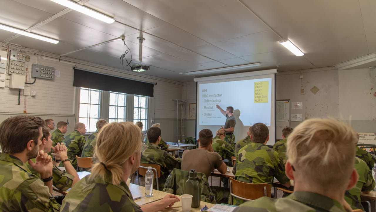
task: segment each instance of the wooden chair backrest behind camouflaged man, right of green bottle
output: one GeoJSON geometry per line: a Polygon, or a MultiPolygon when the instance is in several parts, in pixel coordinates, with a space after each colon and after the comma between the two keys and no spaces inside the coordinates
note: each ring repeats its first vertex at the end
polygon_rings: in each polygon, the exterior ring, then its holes
{"type": "Polygon", "coordinates": [[[260,197],[271,197],[271,186],[267,183],[243,183],[230,177],[230,204],[232,197],[252,201],[260,197]]]}

